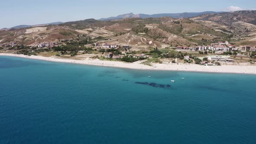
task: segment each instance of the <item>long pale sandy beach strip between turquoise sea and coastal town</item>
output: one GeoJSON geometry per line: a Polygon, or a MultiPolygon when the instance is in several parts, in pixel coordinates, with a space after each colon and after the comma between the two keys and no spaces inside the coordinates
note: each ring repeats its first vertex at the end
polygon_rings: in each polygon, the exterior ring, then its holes
{"type": "Polygon", "coordinates": [[[0,53],[0,56],[12,56],[26,59],[37,59],[50,62],[65,62],[82,65],[97,65],[125,69],[143,69],[143,70],[163,70],[163,71],[186,71],[186,72],[215,72],[215,73],[240,73],[240,74],[253,74],[256,75],[256,66],[253,65],[221,65],[221,66],[205,66],[196,64],[173,64],[162,63],[152,64],[152,66],[140,64],[139,62],[127,63],[116,61],[102,61],[99,59],[58,59],[56,57],[43,57],[43,56],[25,56],[10,53],[0,53]]]}

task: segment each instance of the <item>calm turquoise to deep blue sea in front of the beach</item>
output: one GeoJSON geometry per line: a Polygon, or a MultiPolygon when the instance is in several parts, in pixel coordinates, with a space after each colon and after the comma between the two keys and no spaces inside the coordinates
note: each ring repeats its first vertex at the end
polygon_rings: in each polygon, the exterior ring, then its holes
{"type": "Polygon", "coordinates": [[[255,144],[256,75],[0,57],[0,144],[135,143],[255,144]]]}

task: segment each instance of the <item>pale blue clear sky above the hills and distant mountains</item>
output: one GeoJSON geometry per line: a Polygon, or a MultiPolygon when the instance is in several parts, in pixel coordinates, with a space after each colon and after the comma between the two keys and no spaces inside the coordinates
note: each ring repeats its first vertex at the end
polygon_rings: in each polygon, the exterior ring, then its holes
{"type": "Polygon", "coordinates": [[[255,10],[256,0],[0,0],[0,29],[124,13],[255,10]]]}

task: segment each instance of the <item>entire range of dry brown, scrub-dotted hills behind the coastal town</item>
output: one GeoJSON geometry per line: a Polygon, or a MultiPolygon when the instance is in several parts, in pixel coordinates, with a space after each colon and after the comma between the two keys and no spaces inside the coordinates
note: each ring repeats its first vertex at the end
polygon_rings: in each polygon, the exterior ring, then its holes
{"type": "Polygon", "coordinates": [[[240,11],[203,14],[190,19],[168,16],[139,18],[131,17],[133,14],[129,13],[123,15],[126,18],[118,20],[87,19],[59,25],[5,29],[0,31],[0,41],[31,44],[60,39],[79,41],[81,38],[90,37],[99,43],[128,44],[136,48],[199,46],[226,40],[232,43],[253,44],[254,39],[249,39],[256,34],[256,26],[252,24],[253,13],[254,11],[240,11]],[[217,20],[218,16],[222,16],[223,19],[233,18],[217,20]]]}

